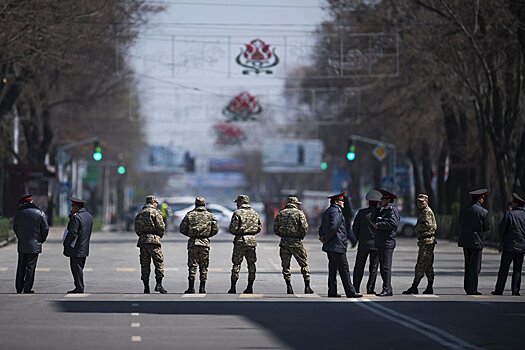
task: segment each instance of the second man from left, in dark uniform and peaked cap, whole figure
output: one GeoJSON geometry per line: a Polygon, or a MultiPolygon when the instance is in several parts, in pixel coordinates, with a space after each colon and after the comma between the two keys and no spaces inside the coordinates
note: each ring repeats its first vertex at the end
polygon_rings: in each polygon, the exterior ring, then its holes
{"type": "Polygon", "coordinates": [[[93,217],[84,208],[86,201],[71,198],[71,214],[64,236],[64,255],[69,257],[69,265],[75,289],[68,293],[84,293],[84,266],[89,255],[89,240],[93,229],[93,217]]]}

